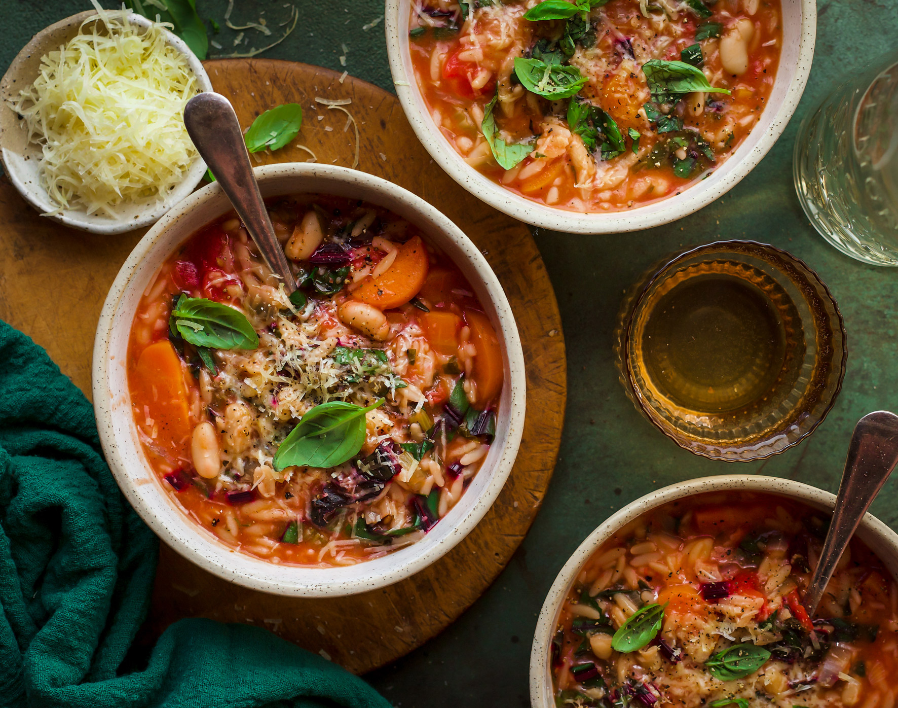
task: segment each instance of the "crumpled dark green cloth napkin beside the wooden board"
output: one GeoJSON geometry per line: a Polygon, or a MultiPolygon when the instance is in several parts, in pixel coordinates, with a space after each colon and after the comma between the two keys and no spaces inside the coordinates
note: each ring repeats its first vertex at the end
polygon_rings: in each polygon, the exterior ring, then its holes
{"type": "Polygon", "coordinates": [[[242,624],[182,620],[124,672],[157,555],[103,461],[91,404],[0,322],[0,706],[390,707],[360,678],[242,624]]]}

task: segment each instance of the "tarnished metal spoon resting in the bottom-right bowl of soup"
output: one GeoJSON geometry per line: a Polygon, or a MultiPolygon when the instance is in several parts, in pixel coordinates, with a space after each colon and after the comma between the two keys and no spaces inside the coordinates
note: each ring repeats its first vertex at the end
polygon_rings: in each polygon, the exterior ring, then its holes
{"type": "Polygon", "coordinates": [[[887,411],[867,413],[858,420],[851,436],[830,528],[814,577],[805,593],[805,607],[812,617],[842,552],[896,463],[898,416],[887,411]]]}

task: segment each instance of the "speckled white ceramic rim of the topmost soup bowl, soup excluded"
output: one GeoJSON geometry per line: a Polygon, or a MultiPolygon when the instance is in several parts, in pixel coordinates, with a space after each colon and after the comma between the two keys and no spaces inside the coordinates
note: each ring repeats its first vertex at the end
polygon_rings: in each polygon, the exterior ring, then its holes
{"type": "Polygon", "coordinates": [[[714,173],[666,199],[602,214],[580,214],[525,199],[506,190],[464,162],[427,111],[418,90],[409,53],[409,2],[386,0],[387,54],[402,109],[418,139],[453,180],[491,207],[533,226],[570,234],[618,234],[668,224],[718,199],[761,162],[792,117],[805,91],[814,58],[817,9],[814,0],[782,0],[783,47],[770,101],[757,125],[714,173]]]}

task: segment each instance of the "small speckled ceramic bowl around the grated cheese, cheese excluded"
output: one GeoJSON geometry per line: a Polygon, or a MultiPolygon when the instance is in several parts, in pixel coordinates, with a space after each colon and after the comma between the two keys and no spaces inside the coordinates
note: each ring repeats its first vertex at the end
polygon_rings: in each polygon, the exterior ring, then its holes
{"type": "MultiPolygon", "coordinates": [[[[17,98],[22,89],[33,83],[40,71],[40,58],[72,39],[78,33],[82,22],[96,14],[95,10],[74,14],[38,32],[13,59],[13,63],[0,80],[0,155],[3,158],[4,169],[22,197],[41,213],[51,211],[56,205],[40,184],[40,146],[28,142],[28,131],[16,112],[10,108],[9,102],[17,98]]],[[[145,17],[133,13],[128,15],[128,22],[144,28],[152,24],[145,17]]],[[[190,70],[197,77],[199,90],[212,91],[212,83],[196,55],[172,32],[166,34],[168,43],[187,59],[190,70]]],[[[157,204],[138,206],[123,203],[119,207],[118,218],[102,214],[88,215],[84,208],[64,209],[50,218],[92,234],[122,234],[142,226],[149,226],[162,217],[174,204],[196,188],[204,173],[206,163],[197,155],[180,185],[172,190],[168,199],[157,204]]]]}

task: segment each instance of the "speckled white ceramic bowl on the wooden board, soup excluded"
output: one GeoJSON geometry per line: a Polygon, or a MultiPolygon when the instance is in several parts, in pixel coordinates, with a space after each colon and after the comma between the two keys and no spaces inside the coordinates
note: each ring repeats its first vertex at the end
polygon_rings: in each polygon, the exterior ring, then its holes
{"type": "Polygon", "coordinates": [[[147,463],[131,415],[126,360],[136,306],[156,270],[202,226],[231,210],[217,183],[191,194],[137,244],[119,270],[103,305],[93,345],[93,407],[106,460],[119,487],[141,518],[178,553],[201,568],[247,588],[304,597],[337,597],[382,588],[426,568],[477,526],[515,463],[524,429],[524,353],[502,287],[477,247],[436,208],[373,175],[335,165],[308,163],[258,167],[263,197],[297,193],[365,199],[392,210],[421,229],[471,283],[503,342],[505,385],[496,438],[462,500],[417,544],[357,565],[302,568],[277,565],[235,551],[200,527],[163,490],[147,463]]]}

